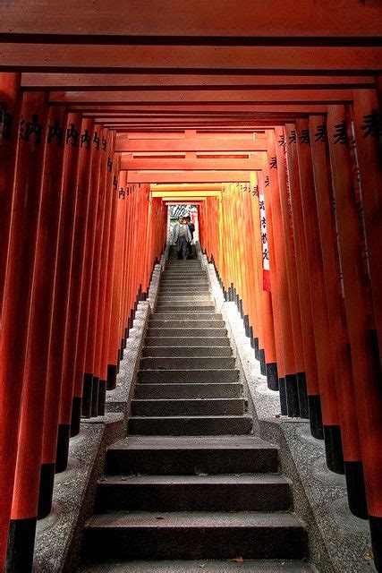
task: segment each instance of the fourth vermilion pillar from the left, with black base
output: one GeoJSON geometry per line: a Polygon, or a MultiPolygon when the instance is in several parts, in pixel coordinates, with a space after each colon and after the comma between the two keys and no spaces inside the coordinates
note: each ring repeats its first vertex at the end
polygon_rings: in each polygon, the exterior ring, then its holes
{"type": "Polygon", "coordinates": [[[41,455],[38,518],[46,517],[52,507],[58,414],[60,409],[61,384],[63,381],[64,344],[72,269],[74,222],[77,197],[79,194],[84,195],[88,191],[76,185],[80,135],[81,114],[71,113],[68,115],[64,134],[63,205],[60,220],[57,268],[55,273],[52,331],[47,366],[47,394],[41,455]]]}

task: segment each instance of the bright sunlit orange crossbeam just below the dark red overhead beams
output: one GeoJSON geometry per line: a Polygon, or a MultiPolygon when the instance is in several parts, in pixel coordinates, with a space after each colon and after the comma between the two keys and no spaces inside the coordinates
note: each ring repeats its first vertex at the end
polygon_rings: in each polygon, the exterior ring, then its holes
{"type": "Polygon", "coordinates": [[[115,141],[115,151],[121,152],[174,152],[174,151],[266,151],[267,141],[265,138],[258,139],[225,139],[216,137],[206,138],[184,138],[174,140],[133,140],[124,134],[117,135],[115,141]]]}

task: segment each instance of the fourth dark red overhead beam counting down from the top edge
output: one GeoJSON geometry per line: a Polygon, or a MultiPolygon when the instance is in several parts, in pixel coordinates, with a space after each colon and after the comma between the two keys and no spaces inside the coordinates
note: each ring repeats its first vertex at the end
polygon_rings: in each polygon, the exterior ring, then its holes
{"type": "MultiPolygon", "coordinates": [[[[382,51],[381,51],[382,64],[382,51]]],[[[167,102],[185,103],[221,103],[242,102],[261,104],[311,104],[344,103],[352,101],[352,90],[174,90],[174,91],[51,91],[51,103],[86,104],[86,103],[124,103],[138,104],[167,102]]]]}

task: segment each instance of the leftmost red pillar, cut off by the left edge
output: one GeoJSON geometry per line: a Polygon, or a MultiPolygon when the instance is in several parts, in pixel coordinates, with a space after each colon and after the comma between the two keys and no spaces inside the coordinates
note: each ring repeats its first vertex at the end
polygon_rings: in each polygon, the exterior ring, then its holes
{"type": "Polygon", "coordinates": [[[21,107],[20,73],[0,73],[0,314],[13,200],[21,107]]]}

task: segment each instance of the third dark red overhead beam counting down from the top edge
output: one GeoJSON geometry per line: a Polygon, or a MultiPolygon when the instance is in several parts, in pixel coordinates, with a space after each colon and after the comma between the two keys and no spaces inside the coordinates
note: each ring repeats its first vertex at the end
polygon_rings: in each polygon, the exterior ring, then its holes
{"type": "Polygon", "coordinates": [[[110,90],[118,88],[132,90],[137,88],[170,88],[199,89],[219,87],[225,90],[241,89],[340,89],[349,87],[357,89],[373,87],[372,76],[310,76],[310,75],[214,75],[214,74],[163,74],[163,73],[22,73],[21,87],[34,89],[73,89],[73,90],[110,90]]]}

